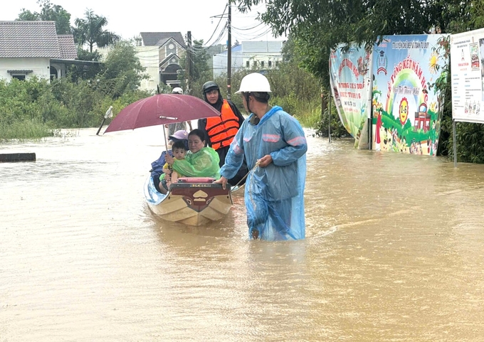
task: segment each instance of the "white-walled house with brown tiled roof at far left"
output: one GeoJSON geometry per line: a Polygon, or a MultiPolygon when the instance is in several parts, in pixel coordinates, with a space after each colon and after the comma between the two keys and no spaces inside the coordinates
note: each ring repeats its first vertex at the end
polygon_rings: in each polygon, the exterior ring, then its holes
{"type": "Polygon", "coordinates": [[[0,78],[62,78],[75,58],[73,35],[58,35],[55,21],[0,21],[0,78]]]}

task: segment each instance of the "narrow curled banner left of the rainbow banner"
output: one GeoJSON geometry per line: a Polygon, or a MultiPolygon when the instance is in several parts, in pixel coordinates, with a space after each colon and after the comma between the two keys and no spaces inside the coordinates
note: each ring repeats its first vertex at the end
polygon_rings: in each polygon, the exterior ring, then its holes
{"type": "Polygon", "coordinates": [[[371,99],[371,55],[364,48],[350,46],[333,50],[330,57],[332,96],[344,128],[358,145],[364,123],[369,118],[371,99]]]}

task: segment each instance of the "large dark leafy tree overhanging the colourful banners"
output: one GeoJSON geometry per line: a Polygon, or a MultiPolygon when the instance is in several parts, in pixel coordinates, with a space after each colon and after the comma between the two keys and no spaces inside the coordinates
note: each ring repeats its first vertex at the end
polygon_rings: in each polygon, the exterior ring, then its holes
{"type": "MultiPolygon", "coordinates": [[[[276,35],[293,36],[301,63],[329,87],[330,50],[339,43],[372,46],[384,35],[450,30],[465,22],[460,0],[236,0],[241,11],[265,2],[261,20],[276,35]]],[[[480,2],[480,1],[474,1],[480,2]]],[[[464,9],[463,9],[464,7],[464,9]]]]}

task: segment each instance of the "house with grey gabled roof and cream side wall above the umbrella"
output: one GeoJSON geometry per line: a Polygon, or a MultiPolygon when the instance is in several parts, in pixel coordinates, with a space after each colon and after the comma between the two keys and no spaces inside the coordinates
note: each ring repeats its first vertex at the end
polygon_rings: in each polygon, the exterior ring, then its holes
{"type": "Polygon", "coordinates": [[[179,63],[186,51],[180,32],[141,32],[136,49],[140,63],[149,75],[149,80],[142,81],[141,89],[156,90],[159,83],[179,86],[179,63]]]}

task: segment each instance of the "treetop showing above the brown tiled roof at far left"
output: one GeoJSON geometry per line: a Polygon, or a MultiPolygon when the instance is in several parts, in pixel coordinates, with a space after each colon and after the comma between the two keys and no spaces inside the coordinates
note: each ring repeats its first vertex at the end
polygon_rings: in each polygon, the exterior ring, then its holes
{"type": "Polygon", "coordinates": [[[40,13],[31,12],[27,9],[21,9],[17,20],[23,21],[56,21],[57,34],[70,33],[70,13],[65,11],[62,6],[51,4],[49,0],[38,0],[37,4],[41,6],[40,13]]]}

